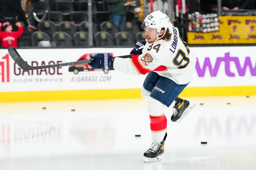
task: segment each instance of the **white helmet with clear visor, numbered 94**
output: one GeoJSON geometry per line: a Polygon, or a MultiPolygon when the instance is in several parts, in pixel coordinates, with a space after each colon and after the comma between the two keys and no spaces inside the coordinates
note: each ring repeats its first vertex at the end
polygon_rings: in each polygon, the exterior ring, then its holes
{"type": "Polygon", "coordinates": [[[166,30],[168,27],[171,27],[172,24],[169,20],[169,17],[164,14],[162,11],[155,11],[150,13],[143,21],[141,27],[144,30],[149,31],[150,33],[155,33],[157,34],[157,40],[162,38],[164,34],[166,33],[166,30]],[[146,26],[148,28],[146,28],[146,26]],[[150,29],[153,28],[153,29],[150,29]],[[161,31],[161,28],[164,28],[164,34],[158,38],[158,34],[161,31]]]}

